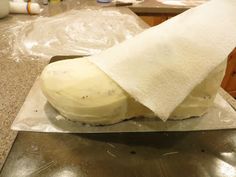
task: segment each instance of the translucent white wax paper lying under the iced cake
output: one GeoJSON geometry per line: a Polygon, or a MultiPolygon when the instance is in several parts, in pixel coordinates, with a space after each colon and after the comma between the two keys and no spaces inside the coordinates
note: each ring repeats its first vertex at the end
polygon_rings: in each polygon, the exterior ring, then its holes
{"type": "Polygon", "coordinates": [[[168,120],[134,118],[109,126],[90,126],[65,120],[48,102],[37,79],[11,128],[60,133],[198,131],[236,128],[236,111],[217,94],[214,106],[199,118],[168,120]]]}

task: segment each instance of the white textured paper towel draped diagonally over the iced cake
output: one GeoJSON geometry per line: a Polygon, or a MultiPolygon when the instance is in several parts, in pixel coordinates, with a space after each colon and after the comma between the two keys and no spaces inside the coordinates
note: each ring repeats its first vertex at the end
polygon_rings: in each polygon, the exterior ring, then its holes
{"type": "Polygon", "coordinates": [[[236,46],[236,1],[212,0],[90,58],[162,120],[236,46]]]}

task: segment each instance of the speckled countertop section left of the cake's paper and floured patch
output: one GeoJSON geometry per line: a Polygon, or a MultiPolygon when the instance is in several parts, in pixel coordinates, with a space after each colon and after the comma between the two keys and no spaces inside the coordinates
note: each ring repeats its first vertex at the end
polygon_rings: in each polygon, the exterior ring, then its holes
{"type": "Polygon", "coordinates": [[[15,56],[11,48],[15,41],[8,32],[15,27],[14,22],[33,18],[9,16],[0,20],[0,168],[17,134],[10,131],[10,125],[36,76],[46,64],[45,61],[34,60],[36,58],[24,54],[15,56]]]}

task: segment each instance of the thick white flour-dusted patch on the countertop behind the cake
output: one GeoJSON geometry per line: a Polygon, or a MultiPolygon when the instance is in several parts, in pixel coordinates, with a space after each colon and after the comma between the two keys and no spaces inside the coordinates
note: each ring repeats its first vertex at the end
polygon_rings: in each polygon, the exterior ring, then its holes
{"type": "Polygon", "coordinates": [[[143,31],[137,19],[109,8],[71,10],[25,23],[14,48],[29,55],[92,55],[143,31]]]}

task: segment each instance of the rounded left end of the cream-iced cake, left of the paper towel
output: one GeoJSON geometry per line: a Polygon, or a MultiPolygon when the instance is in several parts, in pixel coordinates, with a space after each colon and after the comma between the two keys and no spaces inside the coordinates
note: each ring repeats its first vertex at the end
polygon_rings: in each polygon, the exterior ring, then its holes
{"type": "Polygon", "coordinates": [[[48,101],[70,120],[110,124],[151,114],[86,58],[52,63],[40,81],[48,101]]]}

